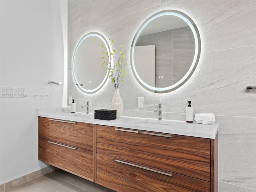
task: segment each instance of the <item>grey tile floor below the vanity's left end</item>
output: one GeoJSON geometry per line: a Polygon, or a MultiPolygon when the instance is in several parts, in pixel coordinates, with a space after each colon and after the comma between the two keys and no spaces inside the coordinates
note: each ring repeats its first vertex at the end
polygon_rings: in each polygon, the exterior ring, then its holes
{"type": "Polygon", "coordinates": [[[6,192],[115,192],[63,170],[55,170],[6,192]]]}

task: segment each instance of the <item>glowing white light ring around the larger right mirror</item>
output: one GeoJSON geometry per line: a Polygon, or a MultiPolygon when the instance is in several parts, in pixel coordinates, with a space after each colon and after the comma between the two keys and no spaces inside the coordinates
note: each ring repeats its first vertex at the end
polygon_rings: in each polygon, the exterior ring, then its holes
{"type": "MultiPolygon", "coordinates": [[[[172,22],[170,20],[170,22],[172,22]]],[[[177,88],[179,88],[180,86],[182,86],[187,80],[188,78],[192,75],[192,73],[194,72],[199,57],[200,57],[200,48],[201,48],[201,44],[200,44],[200,35],[198,32],[198,29],[196,28],[196,25],[194,24],[194,22],[192,21],[191,18],[189,18],[186,14],[176,11],[176,10],[164,10],[161,12],[158,12],[154,15],[152,15],[150,18],[148,18],[138,29],[138,31],[136,32],[136,35],[134,36],[133,42],[132,42],[132,50],[131,50],[131,62],[132,62],[132,71],[133,74],[136,78],[136,80],[147,90],[150,90],[152,92],[158,92],[158,93],[162,93],[162,92],[170,92],[172,90],[175,90],[177,88]],[[184,22],[186,22],[186,24],[190,27],[190,29],[192,30],[192,34],[194,36],[194,58],[192,60],[192,64],[190,66],[190,68],[188,69],[188,71],[186,72],[186,74],[180,79],[178,80],[178,82],[170,85],[170,86],[166,86],[166,87],[155,87],[155,86],[150,86],[149,84],[147,84],[146,82],[144,82],[144,80],[142,80],[142,78],[140,78],[140,75],[138,75],[137,70],[136,70],[136,61],[134,61],[134,52],[136,52],[134,49],[137,46],[136,43],[138,42],[138,38],[140,37],[142,31],[144,30],[144,28],[153,20],[155,20],[156,18],[160,18],[161,16],[176,16],[180,19],[182,19],[184,22]]],[[[144,73],[146,73],[146,71],[144,71],[144,73]]]]}

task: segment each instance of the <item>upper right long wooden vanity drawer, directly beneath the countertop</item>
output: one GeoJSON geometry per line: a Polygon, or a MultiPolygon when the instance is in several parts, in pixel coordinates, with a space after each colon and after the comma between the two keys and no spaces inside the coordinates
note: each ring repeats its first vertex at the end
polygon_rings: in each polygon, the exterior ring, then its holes
{"type": "Polygon", "coordinates": [[[210,139],[127,130],[97,125],[97,153],[210,181],[210,139]]]}

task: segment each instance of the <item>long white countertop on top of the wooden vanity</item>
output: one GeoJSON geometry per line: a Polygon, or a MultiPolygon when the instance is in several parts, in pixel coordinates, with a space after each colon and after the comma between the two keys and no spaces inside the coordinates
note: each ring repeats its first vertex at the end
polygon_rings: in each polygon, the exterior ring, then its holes
{"type": "Polygon", "coordinates": [[[121,116],[120,118],[110,121],[99,120],[94,119],[94,114],[61,112],[61,108],[38,109],[38,116],[209,139],[215,139],[219,127],[219,124],[198,124],[196,122],[187,123],[186,121],[176,120],[159,121],[157,119],[127,116],[121,116]]]}

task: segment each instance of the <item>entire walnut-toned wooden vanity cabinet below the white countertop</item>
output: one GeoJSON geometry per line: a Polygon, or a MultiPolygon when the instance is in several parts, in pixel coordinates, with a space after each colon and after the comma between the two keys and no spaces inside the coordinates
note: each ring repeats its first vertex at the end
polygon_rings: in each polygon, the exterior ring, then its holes
{"type": "Polygon", "coordinates": [[[218,192],[215,139],[38,117],[38,159],[117,192],[218,192]]]}

